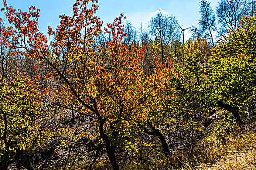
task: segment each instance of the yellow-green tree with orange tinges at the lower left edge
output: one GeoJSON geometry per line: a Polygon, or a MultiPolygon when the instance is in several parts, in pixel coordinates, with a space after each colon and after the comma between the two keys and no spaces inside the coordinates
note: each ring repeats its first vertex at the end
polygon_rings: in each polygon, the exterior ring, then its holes
{"type": "Polygon", "coordinates": [[[33,170],[31,157],[49,138],[44,127],[48,109],[43,104],[49,89],[39,85],[40,76],[29,79],[18,72],[11,78],[0,75],[0,169],[23,157],[28,170],[33,170]]]}

